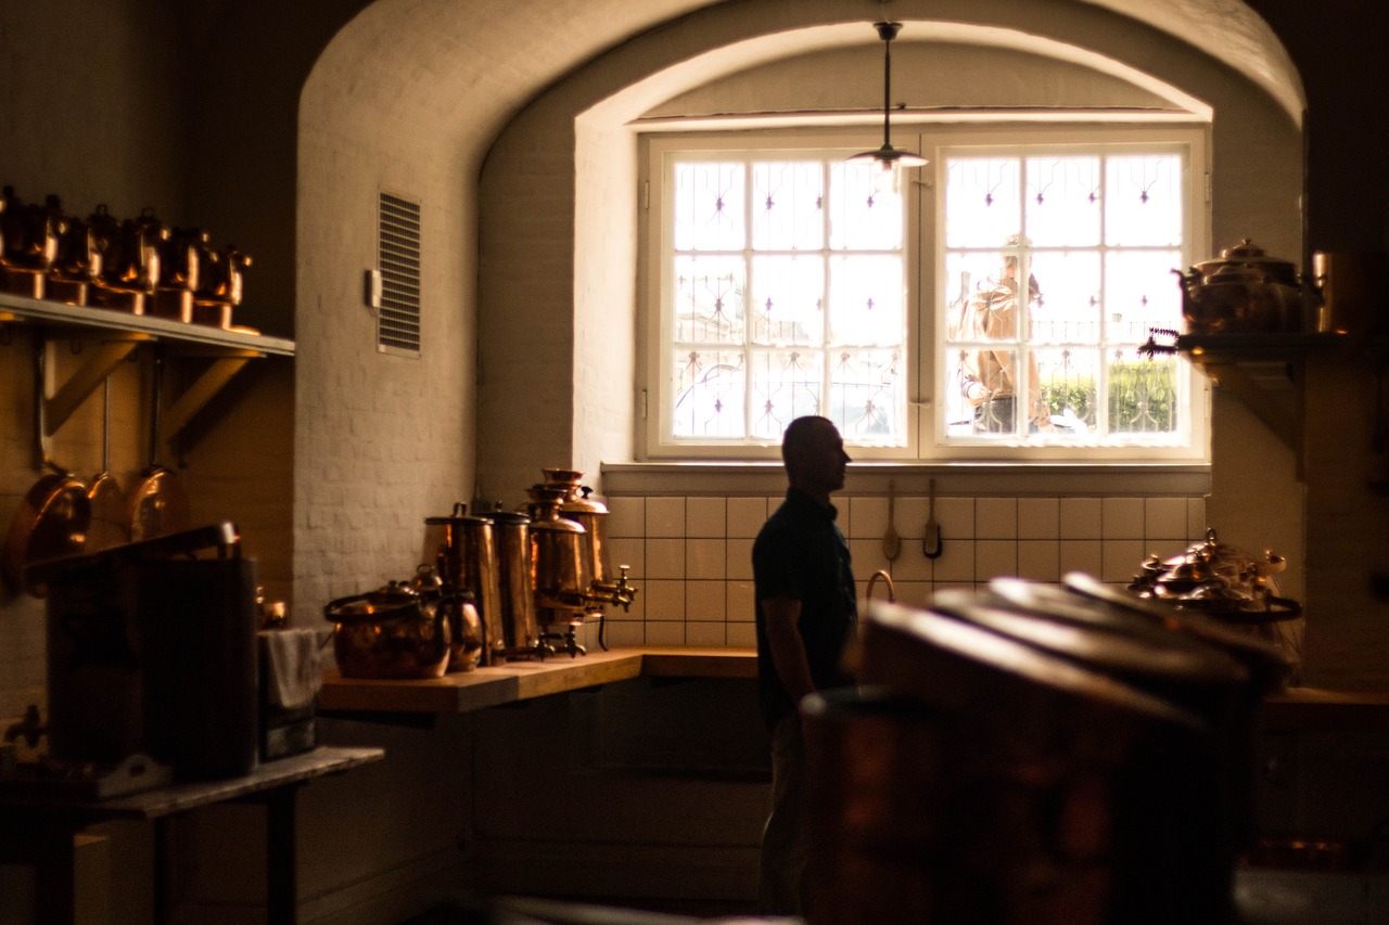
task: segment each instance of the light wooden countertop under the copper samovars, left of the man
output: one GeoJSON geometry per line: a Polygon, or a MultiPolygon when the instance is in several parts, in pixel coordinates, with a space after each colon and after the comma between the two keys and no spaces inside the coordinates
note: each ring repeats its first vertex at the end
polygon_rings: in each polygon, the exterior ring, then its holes
{"type": "Polygon", "coordinates": [[[329,674],[321,711],[468,712],[629,678],[756,678],[757,651],[643,646],[508,661],[421,681],[375,681],[329,674]]]}

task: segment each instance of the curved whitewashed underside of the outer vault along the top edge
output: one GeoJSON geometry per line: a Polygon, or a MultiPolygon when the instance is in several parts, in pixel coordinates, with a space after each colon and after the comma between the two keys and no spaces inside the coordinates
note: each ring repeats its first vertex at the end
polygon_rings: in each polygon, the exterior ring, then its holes
{"type": "MultiPolygon", "coordinates": [[[[775,7],[778,1],[761,6],[775,7]]],[[[899,17],[895,6],[900,7],[899,18],[906,18],[911,6],[857,1],[864,22],[885,10],[899,17]]],[[[1301,122],[1303,90],[1292,61],[1268,25],[1242,0],[1081,1],[1201,49],[1245,74],[1295,124],[1301,122]]],[[[403,124],[397,128],[418,126],[424,115],[439,136],[478,143],[496,138],[531,99],[604,51],[671,21],[724,6],[756,4],[747,0],[376,0],[335,36],[314,74],[326,69],[349,78],[369,75],[369,81],[349,79],[346,89],[335,78],[331,93],[364,97],[357,101],[388,119],[399,114],[403,124]]],[[[847,4],[839,6],[843,12],[847,4]]],[[[863,33],[863,42],[876,40],[871,31],[863,33]]],[[[772,32],[742,43],[738,65],[753,67],[804,50],[797,44],[792,35],[772,32]]],[[[722,67],[732,67],[726,54],[706,54],[703,64],[717,68],[721,58],[722,67]]],[[[314,75],[306,99],[313,86],[314,75]]]]}

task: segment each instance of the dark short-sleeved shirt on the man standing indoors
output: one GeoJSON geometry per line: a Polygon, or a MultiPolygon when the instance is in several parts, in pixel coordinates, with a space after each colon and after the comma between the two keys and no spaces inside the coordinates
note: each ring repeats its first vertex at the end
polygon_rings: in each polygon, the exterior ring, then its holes
{"type": "Polygon", "coordinates": [[[799,489],[786,500],[753,543],[753,578],[757,589],[757,693],[767,728],[792,712],[796,704],[782,685],[767,642],[763,601],[790,597],[800,601],[800,638],[806,643],[810,678],[815,689],[851,683],[840,665],[845,646],[858,621],[854,574],[849,544],[835,524],[838,510],[821,507],[799,489]]]}

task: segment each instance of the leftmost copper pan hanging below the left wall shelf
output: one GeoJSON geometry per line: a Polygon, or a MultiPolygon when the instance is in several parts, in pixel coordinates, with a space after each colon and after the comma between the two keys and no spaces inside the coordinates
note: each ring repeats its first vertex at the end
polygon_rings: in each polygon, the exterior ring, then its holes
{"type": "Polygon", "coordinates": [[[47,586],[42,581],[26,581],[24,567],[81,553],[90,524],[92,501],[82,479],[61,471],[40,478],[10,521],[3,557],[6,586],[15,593],[25,590],[43,597],[47,586]]]}

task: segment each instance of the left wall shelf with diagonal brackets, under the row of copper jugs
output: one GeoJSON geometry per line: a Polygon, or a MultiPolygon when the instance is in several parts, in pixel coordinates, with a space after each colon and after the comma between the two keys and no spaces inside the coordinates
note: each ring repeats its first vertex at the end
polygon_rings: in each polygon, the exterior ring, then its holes
{"type": "Polygon", "coordinates": [[[72,417],[97,386],[142,344],[153,344],[161,358],[207,360],[206,369],[178,394],[160,418],[157,439],[176,438],[213,397],[251,360],[293,357],[294,342],[268,338],[249,328],[224,329],[114,308],[69,306],[60,301],[0,293],[0,329],[18,324],[39,331],[35,339],[35,464],[46,465],[49,438],[72,417]],[[44,354],[61,339],[99,342],[63,382],[49,392],[44,354]]]}

